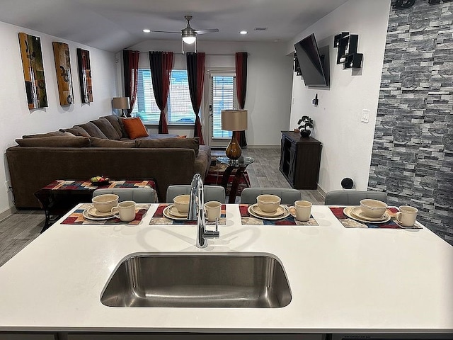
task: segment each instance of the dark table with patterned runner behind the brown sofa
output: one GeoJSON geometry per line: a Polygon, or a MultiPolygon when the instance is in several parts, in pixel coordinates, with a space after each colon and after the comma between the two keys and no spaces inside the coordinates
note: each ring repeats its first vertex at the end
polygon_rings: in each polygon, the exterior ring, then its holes
{"type": "Polygon", "coordinates": [[[50,227],[50,217],[61,217],[78,203],[91,203],[93,191],[97,188],[154,188],[154,180],[109,181],[103,186],[93,186],[91,181],[58,179],[35,192],[35,197],[45,213],[44,232],[50,227]]]}

